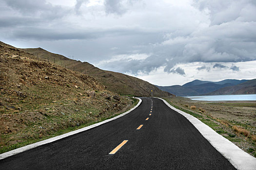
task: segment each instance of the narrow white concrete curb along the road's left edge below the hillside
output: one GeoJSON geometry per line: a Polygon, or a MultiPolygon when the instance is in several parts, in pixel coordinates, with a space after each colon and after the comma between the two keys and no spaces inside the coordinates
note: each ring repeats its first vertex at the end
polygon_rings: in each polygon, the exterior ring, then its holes
{"type": "Polygon", "coordinates": [[[92,125],[90,125],[90,126],[87,126],[87,127],[81,128],[81,129],[78,129],[78,130],[76,130],[76,131],[72,131],[72,132],[69,132],[69,133],[66,133],[66,134],[63,134],[63,135],[60,135],[60,136],[55,136],[55,137],[52,137],[52,138],[49,138],[49,139],[46,139],[46,140],[39,141],[39,142],[37,142],[37,143],[33,143],[33,144],[30,144],[30,145],[27,145],[27,146],[23,146],[23,147],[21,147],[21,148],[18,148],[18,149],[15,149],[15,150],[12,150],[12,151],[9,151],[9,152],[6,152],[6,153],[2,153],[2,154],[0,154],[0,160],[1,160],[1,159],[4,159],[4,158],[6,158],[6,157],[12,156],[12,155],[14,155],[14,154],[21,153],[21,152],[24,152],[24,151],[26,151],[26,150],[29,150],[29,149],[38,147],[38,146],[40,146],[40,145],[44,145],[44,144],[47,144],[47,143],[51,143],[51,142],[54,142],[54,141],[56,141],[56,140],[62,139],[62,138],[64,138],[64,137],[71,136],[71,135],[75,135],[75,134],[78,134],[78,133],[83,132],[83,131],[87,131],[87,130],[92,129],[92,128],[94,128],[94,127],[97,127],[97,126],[99,126],[99,125],[101,125],[101,124],[104,124],[104,123],[107,123],[107,122],[109,122],[109,121],[118,119],[118,118],[120,118],[120,117],[122,117],[122,116],[124,116],[124,115],[126,115],[126,114],[128,114],[128,113],[130,113],[131,111],[133,111],[134,109],[136,109],[136,108],[140,105],[140,103],[142,102],[142,100],[139,99],[139,98],[136,98],[136,99],[139,100],[138,104],[137,104],[134,108],[128,110],[127,112],[125,112],[125,113],[123,113],[123,114],[120,114],[120,115],[118,115],[118,116],[116,116],[116,117],[114,117],[114,118],[107,119],[107,120],[101,121],[101,122],[99,122],[99,123],[92,124],[92,125]]]}

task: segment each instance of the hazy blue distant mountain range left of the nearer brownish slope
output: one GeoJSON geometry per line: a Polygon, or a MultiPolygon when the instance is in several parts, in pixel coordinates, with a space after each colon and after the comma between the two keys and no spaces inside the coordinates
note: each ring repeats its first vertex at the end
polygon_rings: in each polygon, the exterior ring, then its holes
{"type": "Polygon", "coordinates": [[[167,91],[169,93],[175,94],[177,96],[197,96],[197,95],[210,94],[214,91],[217,91],[218,89],[239,85],[247,81],[248,80],[235,80],[235,79],[226,79],[219,82],[194,80],[182,86],[181,85],[158,86],[158,88],[161,90],[167,91]]]}

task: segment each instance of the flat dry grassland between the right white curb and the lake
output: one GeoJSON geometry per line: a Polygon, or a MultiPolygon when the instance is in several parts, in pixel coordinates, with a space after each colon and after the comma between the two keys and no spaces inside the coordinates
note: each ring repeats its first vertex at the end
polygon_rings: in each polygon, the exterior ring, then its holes
{"type": "Polygon", "coordinates": [[[205,102],[164,98],[256,157],[256,102],[205,102]]]}

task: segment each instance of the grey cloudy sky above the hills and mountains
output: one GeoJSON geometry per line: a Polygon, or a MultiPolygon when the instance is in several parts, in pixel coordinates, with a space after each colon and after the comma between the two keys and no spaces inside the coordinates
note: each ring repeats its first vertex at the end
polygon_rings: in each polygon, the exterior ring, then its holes
{"type": "Polygon", "coordinates": [[[256,78],[256,0],[0,0],[0,41],[155,85],[256,78]]]}

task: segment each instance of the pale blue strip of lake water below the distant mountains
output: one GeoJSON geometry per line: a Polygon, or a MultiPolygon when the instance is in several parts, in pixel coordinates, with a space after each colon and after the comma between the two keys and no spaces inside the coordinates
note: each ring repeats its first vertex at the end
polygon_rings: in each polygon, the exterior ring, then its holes
{"type": "Polygon", "coordinates": [[[193,101],[256,101],[256,94],[189,96],[187,98],[190,98],[193,101]]]}

